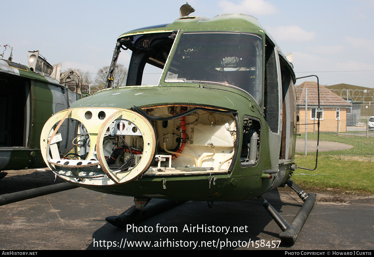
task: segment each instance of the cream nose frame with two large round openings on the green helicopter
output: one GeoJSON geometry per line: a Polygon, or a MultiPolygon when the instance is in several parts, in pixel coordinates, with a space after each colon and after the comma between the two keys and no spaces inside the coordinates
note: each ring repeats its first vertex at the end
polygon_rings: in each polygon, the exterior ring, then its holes
{"type": "Polygon", "coordinates": [[[86,185],[132,181],[148,169],[156,151],[153,126],[142,115],[126,109],[58,112],[47,121],[40,138],[50,169],[67,181],[86,185]],[[65,136],[61,128],[66,119],[76,122],[75,151],[60,156],[58,146],[65,136]]]}

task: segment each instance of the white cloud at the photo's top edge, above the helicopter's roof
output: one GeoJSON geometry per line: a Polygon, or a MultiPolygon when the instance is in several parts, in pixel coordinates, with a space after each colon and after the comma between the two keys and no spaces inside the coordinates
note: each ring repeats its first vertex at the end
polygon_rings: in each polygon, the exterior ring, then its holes
{"type": "Polygon", "coordinates": [[[264,0],[243,0],[239,4],[227,0],[218,2],[224,13],[245,13],[250,15],[269,15],[278,12],[277,8],[264,0]]]}

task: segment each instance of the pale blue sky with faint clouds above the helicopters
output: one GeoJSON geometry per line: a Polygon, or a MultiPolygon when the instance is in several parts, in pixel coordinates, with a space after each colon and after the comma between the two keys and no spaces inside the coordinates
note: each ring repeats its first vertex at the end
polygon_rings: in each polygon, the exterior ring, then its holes
{"type": "MultiPolygon", "coordinates": [[[[120,34],[170,23],[179,18],[184,3],[186,0],[3,1],[1,12],[7,17],[3,15],[0,45],[13,47],[13,61],[17,63],[27,64],[27,51],[39,50],[51,64],[62,61],[63,69],[95,73],[110,64],[120,34]]],[[[198,16],[255,16],[284,54],[294,53],[296,76],[318,75],[322,85],[346,83],[374,88],[374,0],[188,3],[198,16]]],[[[4,57],[9,54],[7,49],[4,57]]],[[[125,63],[128,58],[123,54],[121,61],[125,63]]]]}

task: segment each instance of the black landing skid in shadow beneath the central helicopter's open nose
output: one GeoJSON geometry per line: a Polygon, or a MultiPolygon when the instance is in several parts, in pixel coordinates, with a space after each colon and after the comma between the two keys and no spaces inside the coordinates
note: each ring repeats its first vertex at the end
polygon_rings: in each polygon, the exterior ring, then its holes
{"type": "Polygon", "coordinates": [[[106,217],[105,220],[116,227],[124,228],[127,224],[134,224],[141,220],[145,220],[184,202],[186,201],[152,199],[142,210],[138,210],[134,206],[124,214],[106,217]]]}

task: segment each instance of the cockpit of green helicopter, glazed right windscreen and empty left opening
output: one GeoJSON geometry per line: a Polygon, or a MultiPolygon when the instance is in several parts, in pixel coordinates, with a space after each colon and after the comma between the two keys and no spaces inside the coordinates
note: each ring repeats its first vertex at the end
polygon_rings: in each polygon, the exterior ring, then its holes
{"type": "Polygon", "coordinates": [[[176,36],[177,31],[172,31],[121,38],[116,48],[118,54],[120,48],[132,51],[126,86],[142,84],[146,64],[164,69],[165,64],[170,63],[166,64],[166,75],[160,83],[225,85],[251,95],[261,106],[263,39],[260,36],[237,32],[184,32],[178,36],[175,51],[168,60],[176,36]]]}

